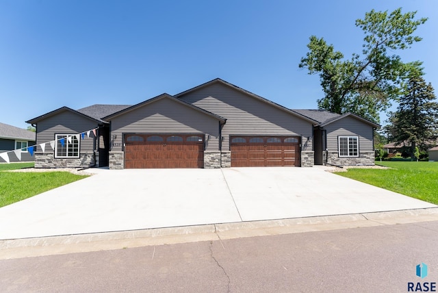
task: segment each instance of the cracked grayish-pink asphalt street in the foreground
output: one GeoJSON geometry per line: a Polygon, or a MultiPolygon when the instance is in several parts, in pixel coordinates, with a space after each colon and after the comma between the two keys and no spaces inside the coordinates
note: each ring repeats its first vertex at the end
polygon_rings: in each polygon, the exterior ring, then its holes
{"type": "Polygon", "coordinates": [[[407,292],[437,243],[430,221],[4,259],[0,291],[407,292]]]}

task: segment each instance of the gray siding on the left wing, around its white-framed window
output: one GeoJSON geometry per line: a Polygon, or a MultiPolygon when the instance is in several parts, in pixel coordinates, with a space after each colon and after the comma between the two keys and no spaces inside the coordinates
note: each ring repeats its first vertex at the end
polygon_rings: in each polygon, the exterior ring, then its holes
{"type": "MultiPolygon", "coordinates": [[[[36,127],[36,144],[55,140],[55,134],[76,134],[94,129],[97,126],[96,121],[66,110],[38,122],[36,127]]],[[[90,138],[85,136],[79,143],[81,152],[91,152],[93,151],[94,137],[92,134],[90,138]]],[[[37,146],[37,151],[42,151],[39,145],[37,146]]],[[[53,151],[49,144],[46,145],[46,151],[53,151]]]]}

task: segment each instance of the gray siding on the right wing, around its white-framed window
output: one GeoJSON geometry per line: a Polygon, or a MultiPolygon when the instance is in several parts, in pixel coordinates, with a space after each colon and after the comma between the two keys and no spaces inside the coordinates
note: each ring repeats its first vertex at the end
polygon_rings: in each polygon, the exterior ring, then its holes
{"type": "Polygon", "coordinates": [[[359,136],[359,152],[373,151],[373,130],[372,126],[352,117],[345,117],[337,120],[324,129],[327,130],[327,149],[337,152],[338,136],[359,136]]]}

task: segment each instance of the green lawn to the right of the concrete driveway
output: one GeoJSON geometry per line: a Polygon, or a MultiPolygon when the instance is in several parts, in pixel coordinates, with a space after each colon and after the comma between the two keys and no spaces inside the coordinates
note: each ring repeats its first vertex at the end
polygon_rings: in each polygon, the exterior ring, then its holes
{"type": "Polygon", "coordinates": [[[352,168],[336,173],[415,199],[438,204],[438,162],[376,162],[391,169],[352,168]]]}

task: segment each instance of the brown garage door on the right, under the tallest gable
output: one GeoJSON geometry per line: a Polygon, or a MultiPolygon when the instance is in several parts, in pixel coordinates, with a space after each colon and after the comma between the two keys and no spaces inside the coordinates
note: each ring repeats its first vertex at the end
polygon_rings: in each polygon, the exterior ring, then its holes
{"type": "Polygon", "coordinates": [[[231,136],[231,166],[300,166],[300,138],[231,136]]]}

